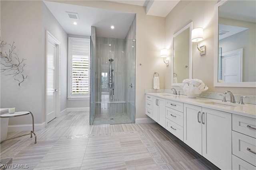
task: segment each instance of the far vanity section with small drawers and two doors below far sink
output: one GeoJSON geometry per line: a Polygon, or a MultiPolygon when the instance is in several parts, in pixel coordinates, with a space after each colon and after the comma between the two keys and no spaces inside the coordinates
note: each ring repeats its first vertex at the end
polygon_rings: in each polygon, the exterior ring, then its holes
{"type": "Polygon", "coordinates": [[[165,99],[146,95],[146,115],[165,127],[165,99]]]}

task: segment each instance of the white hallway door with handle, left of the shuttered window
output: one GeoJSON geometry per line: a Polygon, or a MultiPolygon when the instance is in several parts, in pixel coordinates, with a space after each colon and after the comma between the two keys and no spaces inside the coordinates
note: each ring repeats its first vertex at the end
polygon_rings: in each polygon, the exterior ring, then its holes
{"type": "Polygon", "coordinates": [[[56,117],[56,44],[48,39],[47,42],[47,123],[56,117]]]}

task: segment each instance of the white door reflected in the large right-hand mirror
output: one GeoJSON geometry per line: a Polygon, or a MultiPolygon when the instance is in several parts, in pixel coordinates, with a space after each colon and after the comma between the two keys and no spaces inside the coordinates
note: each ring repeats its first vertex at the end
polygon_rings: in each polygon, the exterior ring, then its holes
{"type": "Polygon", "coordinates": [[[222,54],[222,80],[242,82],[242,49],[222,54]]]}

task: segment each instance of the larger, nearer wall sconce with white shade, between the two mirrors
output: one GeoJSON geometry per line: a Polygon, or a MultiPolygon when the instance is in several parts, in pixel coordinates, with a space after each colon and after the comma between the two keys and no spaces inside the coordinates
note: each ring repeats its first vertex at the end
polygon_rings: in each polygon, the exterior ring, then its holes
{"type": "Polygon", "coordinates": [[[203,28],[195,28],[191,33],[191,41],[197,43],[197,49],[200,51],[200,55],[205,55],[205,45],[198,47],[198,41],[202,41],[204,39],[204,29],[203,28]]]}

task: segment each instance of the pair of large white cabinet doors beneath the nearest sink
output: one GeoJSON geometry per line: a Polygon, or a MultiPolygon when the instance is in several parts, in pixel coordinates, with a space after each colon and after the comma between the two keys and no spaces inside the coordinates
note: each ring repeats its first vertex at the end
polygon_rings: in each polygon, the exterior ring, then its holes
{"type": "Polygon", "coordinates": [[[184,104],[184,143],[220,169],[232,169],[232,114],[184,104]]]}

